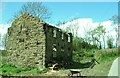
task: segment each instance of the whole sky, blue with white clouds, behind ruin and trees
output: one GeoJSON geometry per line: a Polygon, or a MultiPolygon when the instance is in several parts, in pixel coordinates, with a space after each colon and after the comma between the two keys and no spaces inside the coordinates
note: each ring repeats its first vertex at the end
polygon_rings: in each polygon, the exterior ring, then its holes
{"type": "MultiPolygon", "coordinates": [[[[7,28],[11,26],[13,15],[17,13],[25,3],[26,2],[0,3],[0,34],[3,35],[7,33],[7,28]]],[[[118,15],[117,2],[43,2],[43,4],[48,7],[52,13],[51,19],[46,21],[49,24],[55,25],[59,21],[67,21],[64,26],[60,26],[61,28],[66,28],[69,24],[74,24],[77,21],[80,24],[79,35],[84,37],[83,27],[90,28],[92,26],[94,28],[101,23],[107,31],[111,32],[110,35],[115,37],[115,31],[111,30],[113,29],[112,21],[109,21],[109,19],[114,15],[118,15]],[[74,18],[78,19],[73,20],[74,18]]]]}

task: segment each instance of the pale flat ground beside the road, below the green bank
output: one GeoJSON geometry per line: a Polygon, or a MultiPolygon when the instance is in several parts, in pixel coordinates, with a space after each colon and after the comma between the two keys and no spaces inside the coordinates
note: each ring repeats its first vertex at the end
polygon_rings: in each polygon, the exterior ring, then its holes
{"type": "Polygon", "coordinates": [[[104,64],[96,64],[92,69],[82,69],[83,76],[107,76],[112,62],[104,64]]]}

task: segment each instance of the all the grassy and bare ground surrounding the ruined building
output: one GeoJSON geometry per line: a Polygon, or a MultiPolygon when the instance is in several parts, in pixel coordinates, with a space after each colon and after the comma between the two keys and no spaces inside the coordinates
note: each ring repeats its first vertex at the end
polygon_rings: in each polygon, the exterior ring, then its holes
{"type": "Polygon", "coordinates": [[[83,76],[106,76],[112,65],[114,59],[118,56],[118,50],[116,49],[105,49],[105,50],[95,50],[95,58],[98,59],[100,64],[96,64],[92,69],[84,68],[85,62],[90,61],[91,57],[86,57],[86,55],[91,55],[92,50],[83,50],[82,52],[76,51],[73,52],[73,63],[68,68],[62,68],[56,72],[51,72],[48,68],[43,67],[41,70],[38,69],[23,69],[17,68],[14,65],[7,63],[7,57],[4,55],[1,59],[2,64],[0,65],[0,74],[9,74],[9,75],[52,75],[52,76],[66,76],[69,73],[69,69],[75,68],[82,70],[83,76]],[[84,54],[85,56],[80,57],[79,54],[84,54]],[[83,65],[83,67],[82,67],[83,65]],[[48,72],[48,73],[46,73],[48,72]]]}

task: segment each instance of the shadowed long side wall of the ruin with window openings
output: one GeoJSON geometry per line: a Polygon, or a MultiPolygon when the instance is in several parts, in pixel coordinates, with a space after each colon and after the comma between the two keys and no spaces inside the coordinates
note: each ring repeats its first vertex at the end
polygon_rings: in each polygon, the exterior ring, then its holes
{"type": "Polygon", "coordinates": [[[45,35],[46,64],[52,62],[69,64],[72,61],[72,34],[46,24],[45,35]]]}

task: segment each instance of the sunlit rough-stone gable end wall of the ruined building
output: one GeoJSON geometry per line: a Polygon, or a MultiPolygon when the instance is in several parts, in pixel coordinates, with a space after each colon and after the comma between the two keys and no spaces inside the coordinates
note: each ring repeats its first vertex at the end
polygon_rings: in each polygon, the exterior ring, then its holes
{"type": "Polygon", "coordinates": [[[44,65],[45,34],[44,23],[38,18],[24,14],[8,29],[7,50],[9,62],[17,67],[38,67],[44,65]]]}

